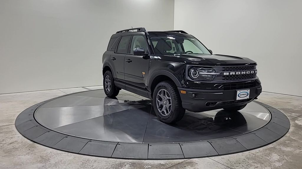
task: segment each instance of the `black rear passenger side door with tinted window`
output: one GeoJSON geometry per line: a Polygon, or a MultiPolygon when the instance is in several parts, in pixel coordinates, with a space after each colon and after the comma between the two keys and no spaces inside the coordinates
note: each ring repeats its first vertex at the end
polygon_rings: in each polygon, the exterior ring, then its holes
{"type": "Polygon", "coordinates": [[[109,64],[113,69],[112,71],[116,80],[124,80],[125,78],[124,60],[126,53],[128,53],[130,39],[131,36],[122,36],[114,53],[111,54],[109,64]]]}

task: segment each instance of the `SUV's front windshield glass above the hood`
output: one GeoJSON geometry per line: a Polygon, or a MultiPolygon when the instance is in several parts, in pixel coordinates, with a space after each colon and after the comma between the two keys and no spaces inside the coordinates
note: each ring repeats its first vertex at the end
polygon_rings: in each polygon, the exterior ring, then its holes
{"type": "Polygon", "coordinates": [[[210,54],[196,38],[185,36],[151,36],[155,54],[210,54]]]}

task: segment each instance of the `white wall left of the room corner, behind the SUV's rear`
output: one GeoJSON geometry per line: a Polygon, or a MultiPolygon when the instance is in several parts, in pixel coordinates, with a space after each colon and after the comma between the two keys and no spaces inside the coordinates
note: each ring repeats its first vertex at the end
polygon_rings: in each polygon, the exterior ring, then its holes
{"type": "Polygon", "coordinates": [[[118,30],[170,30],[174,0],[1,0],[0,94],[102,84],[118,30]]]}

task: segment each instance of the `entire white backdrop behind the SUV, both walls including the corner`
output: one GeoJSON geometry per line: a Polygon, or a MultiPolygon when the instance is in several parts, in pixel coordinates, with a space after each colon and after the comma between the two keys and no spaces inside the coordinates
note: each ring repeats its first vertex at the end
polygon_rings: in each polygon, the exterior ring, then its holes
{"type": "Polygon", "coordinates": [[[257,61],[264,91],[302,96],[301,6],[294,0],[2,0],[0,94],[102,84],[110,36],[133,26],[183,29],[216,54],[257,61]]]}

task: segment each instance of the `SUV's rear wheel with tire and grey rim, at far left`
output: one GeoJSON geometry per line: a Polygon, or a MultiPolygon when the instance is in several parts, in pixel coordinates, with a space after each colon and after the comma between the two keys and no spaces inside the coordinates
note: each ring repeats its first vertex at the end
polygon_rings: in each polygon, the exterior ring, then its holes
{"type": "Polygon", "coordinates": [[[105,94],[108,97],[116,97],[120,92],[120,88],[115,86],[113,75],[109,70],[107,70],[104,74],[103,85],[105,94]]]}

